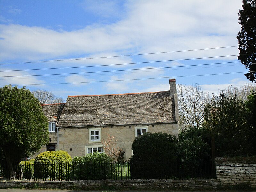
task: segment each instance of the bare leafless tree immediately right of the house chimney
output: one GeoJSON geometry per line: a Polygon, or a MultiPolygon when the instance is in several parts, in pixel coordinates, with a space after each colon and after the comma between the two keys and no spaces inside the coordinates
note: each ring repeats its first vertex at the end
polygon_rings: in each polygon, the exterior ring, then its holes
{"type": "Polygon", "coordinates": [[[189,126],[200,126],[203,121],[205,105],[210,101],[209,93],[203,92],[196,85],[178,85],[179,127],[186,129],[189,126]]]}

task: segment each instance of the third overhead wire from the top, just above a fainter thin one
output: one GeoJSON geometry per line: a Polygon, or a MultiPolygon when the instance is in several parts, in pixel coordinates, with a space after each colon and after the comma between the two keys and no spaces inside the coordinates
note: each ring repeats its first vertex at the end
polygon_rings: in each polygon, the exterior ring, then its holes
{"type": "MultiPolygon", "coordinates": [[[[237,63],[234,62],[223,62],[223,63],[237,63]]],[[[178,68],[178,67],[191,67],[191,66],[202,66],[202,65],[216,65],[223,63],[208,63],[198,65],[187,65],[187,66],[171,66],[171,67],[157,67],[157,68],[137,68],[137,69],[122,69],[122,70],[109,70],[109,71],[92,71],[92,72],[78,72],[78,73],[58,73],[58,74],[41,74],[41,75],[19,75],[19,76],[0,76],[0,77],[25,77],[25,76],[52,76],[52,75],[71,75],[71,74],[88,74],[88,73],[105,73],[105,72],[119,72],[119,71],[136,71],[136,70],[147,70],[147,69],[163,69],[163,68],[178,68]]]]}

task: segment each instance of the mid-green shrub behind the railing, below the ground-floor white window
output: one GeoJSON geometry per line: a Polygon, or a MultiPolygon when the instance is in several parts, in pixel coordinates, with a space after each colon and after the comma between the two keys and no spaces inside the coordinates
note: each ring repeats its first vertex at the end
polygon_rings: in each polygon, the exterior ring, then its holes
{"type": "Polygon", "coordinates": [[[99,180],[110,178],[114,175],[115,168],[111,166],[111,159],[105,153],[93,153],[74,157],[72,171],[72,179],[99,180]]]}

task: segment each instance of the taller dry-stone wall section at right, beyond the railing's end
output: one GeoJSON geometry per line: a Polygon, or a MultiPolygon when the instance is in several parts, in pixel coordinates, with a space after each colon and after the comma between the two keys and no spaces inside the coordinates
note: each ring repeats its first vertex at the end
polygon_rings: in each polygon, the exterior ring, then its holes
{"type": "Polygon", "coordinates": [[[223,186],[249,184],[252,188],[256,188],[256,163],[228,162],[216,158],[215,165],[218,184],[223,186]]]}

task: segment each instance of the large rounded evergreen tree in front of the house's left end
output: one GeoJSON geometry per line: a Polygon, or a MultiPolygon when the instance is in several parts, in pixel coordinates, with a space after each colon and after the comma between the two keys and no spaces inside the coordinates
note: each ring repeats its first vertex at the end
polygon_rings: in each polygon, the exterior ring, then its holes
{"type": "Polygon", "coordinates": [[[0,164],[7,178],[21,158],[49,141],[47,118],[28,89],[0,88],[0,135],[0,164]]]}

